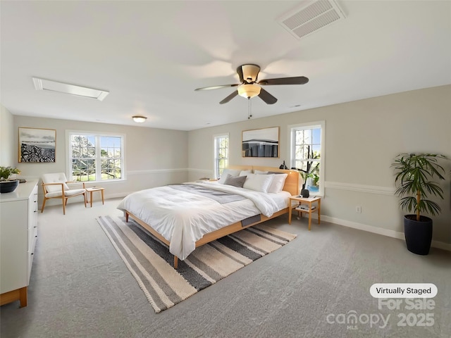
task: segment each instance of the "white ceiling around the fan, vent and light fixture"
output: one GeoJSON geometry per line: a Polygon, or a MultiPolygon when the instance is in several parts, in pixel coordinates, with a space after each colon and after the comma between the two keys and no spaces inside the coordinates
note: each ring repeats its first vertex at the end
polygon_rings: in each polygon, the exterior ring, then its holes
{"type": "Polygon", "coordinates": [[[253,118],[451,84],[451,1],[340,1],[346,18],[295,39],[277,23],[304,1],[1,1],[1,96],[14,115],[194,130],[247,120],[219,104],[243,63],[264,87],[253,118]],[[104,101],[37,91],[32,77],[109,91],[104,101]],[[300,106],[298,106],[300,105],[300,106]]]}

